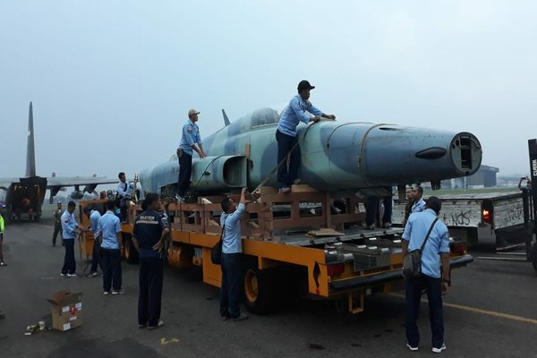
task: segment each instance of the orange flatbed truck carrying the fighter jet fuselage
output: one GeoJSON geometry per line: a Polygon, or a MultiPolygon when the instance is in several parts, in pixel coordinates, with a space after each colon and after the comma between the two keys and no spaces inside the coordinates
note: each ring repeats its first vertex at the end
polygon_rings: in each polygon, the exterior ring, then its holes
{"type": "MultiPolygon", "coordinates": [[[[360,200],[341,193],[273,193],[266,188],[249,203],[241,219],[243,234],[243,292],[249,311],[266,313],[302,294],[344,303],[348,311],[363,311],[364,297],[404,287],[401,275],[401,228],[363,229],[360,200]],[[267,192],[268,191],[268,192],[267,192]],[[343,200],[346,212],[337,213],[332,200],[343,200]]],[[[220,266],[210,260],[219,240],[223,197],[200,197],[197,203],[170,203],[171,223],[167,261],[177,268],[200,266],[203,282],[219,287],[220,266]]],[[[238,196],[234,196],[238,200],[238,196]]],[[[124,251],[136,261],[131,234],[134,217],[122,225],[124,251]]],[[[451,240],[451,268],[473,261],[463,241],[451,240]]]]}

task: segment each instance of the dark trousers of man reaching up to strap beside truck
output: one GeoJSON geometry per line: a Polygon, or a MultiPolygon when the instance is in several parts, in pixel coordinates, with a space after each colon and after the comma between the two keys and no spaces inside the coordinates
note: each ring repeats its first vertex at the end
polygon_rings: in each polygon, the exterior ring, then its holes
{"type": "Polygon", "coordinates": [[[241,309],[242,253],[222,253],[222,287],[220,288],[220,315],[239,317],[241,309]]]}

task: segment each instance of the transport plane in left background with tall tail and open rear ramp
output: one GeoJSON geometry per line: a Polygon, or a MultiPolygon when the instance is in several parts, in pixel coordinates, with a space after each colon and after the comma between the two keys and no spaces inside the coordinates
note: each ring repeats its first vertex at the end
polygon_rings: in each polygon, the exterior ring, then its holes
{"type": "Polygon", "coordinates": [[[7,209],[5,216],[8,221],[28,216],[30,220],[38,220],[41,216],[41,207],[45,200],[45,193],[50,189],[50,201],[59,190],[66,186],[74,186],[72,193],[74,199],[80,199],[83,192],[93,192],[98,184],[116,183],[117,180],[106,177],[41,177],[36,175],[36,156],[33,131],[33,107],[30,102],[28,116],[28,147],[26,152],[26,176],[21,178],[0,178],[0,200],[4,201],[7,209]],[[83,191],[80,190],[84,186],[83,191]]]}

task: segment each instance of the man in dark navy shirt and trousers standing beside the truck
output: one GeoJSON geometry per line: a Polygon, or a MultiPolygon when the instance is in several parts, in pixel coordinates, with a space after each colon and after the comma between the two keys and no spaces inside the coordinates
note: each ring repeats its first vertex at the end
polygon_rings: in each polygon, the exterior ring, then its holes
{"type": "Polygon", "coordinates": [[[164,321],[160,320],[160,311],[165,242],[170,228],[166,217],[159,214],[162,201],[158,199],[158,194],[149,192],[143,205],[146,210],[136,217],[132,230],[132,243],[140,257],[138,327],[154,329],[164,326],[164,321]]]}

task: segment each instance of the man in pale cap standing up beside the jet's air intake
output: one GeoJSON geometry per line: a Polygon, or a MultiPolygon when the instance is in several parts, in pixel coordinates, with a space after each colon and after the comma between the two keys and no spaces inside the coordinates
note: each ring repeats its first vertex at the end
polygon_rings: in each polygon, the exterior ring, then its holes
{"type": "Polygon", "coordinates": [[[201,144],[200,128],[196,124],[198,122],[198,115],[200,115],[200,111],[194,108],[188,111],[188,121],[183,125],[181,142],[179,143],[179,148],[177,148],[179,178],[177,180],[177,195],[175,195],[175,198],[180,202],[184,201],[184,193],[190,186],[193,151],[198,153],[200,158],[207,157],[201,144]]]}

